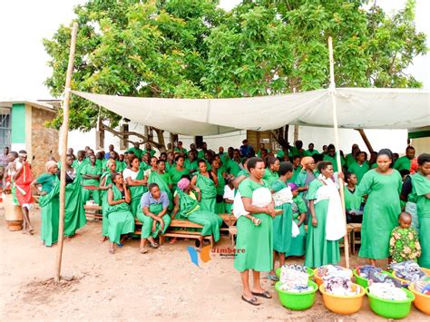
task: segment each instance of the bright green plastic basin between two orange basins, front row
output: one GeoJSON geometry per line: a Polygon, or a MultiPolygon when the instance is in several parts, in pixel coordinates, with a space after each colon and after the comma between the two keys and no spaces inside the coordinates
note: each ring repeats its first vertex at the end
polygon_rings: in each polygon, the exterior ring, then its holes
{"type": "Polygon", "coordinates": [[[369,289],[366,288],[366,294],[369,298],[369,305],[372,311],[378,316],[386,318],[404,318],[411,312],[412,301],[415,299],[415,295],[407,290],[401,288],[407,296],[407,299],[402,301],[392,301],[384,298],[376,298],[369,294],[369,289]]]}

